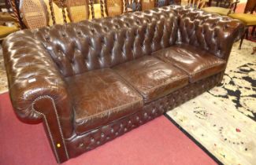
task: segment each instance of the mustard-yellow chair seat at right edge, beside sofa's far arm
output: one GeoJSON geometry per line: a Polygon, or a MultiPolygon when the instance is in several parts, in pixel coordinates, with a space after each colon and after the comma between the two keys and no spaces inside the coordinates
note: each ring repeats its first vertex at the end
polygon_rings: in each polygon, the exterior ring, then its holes
{"type": "Polygon", "coordinates": [[[254,14],[232,13],[232,14],[229,14],[228,16],[230,16],[234,19],[242,20],[243,23],[246,24],[247,26],[256,25],[256,15],[254,15],[254,14]]]}

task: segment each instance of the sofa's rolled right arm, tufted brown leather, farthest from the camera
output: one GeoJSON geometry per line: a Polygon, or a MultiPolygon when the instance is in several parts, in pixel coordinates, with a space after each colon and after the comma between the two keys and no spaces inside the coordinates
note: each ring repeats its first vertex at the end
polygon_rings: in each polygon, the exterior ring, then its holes
{"type": "Polygon", "coordinates": [[[177,42],[198,46],[228,60],[233,42],[243,34],[243,22],[200,9],[180,6],[173,6],[173,9],[180,20],[177,42]]]}

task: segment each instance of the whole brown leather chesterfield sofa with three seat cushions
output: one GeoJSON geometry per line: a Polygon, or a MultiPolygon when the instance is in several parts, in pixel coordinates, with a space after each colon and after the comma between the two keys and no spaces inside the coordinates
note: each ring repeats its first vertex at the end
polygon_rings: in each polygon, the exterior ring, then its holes
{"type": "Polygon", "coordinates": [[[216,86],[241,31],[180,6],[19,31],[3,42],[9,95],[62,163],[216,86]]]}

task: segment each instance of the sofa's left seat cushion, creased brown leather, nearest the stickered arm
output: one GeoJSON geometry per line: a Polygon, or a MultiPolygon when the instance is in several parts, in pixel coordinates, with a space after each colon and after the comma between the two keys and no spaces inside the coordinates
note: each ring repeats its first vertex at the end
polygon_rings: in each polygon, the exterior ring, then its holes
{"type": "Polygon", "coordinates": [[[102,127],[143,107],[143,97],[110,69],[66,78],[76,134],[102,127]]]}

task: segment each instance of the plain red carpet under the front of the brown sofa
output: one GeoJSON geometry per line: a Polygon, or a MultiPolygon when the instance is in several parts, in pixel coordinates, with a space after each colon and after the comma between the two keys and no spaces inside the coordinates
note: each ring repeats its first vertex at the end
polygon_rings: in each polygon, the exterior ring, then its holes
{"type": "MultiPolygon", "coordinates": [[[[21,123],[14,115],[8,94],[0,95],[0,164],[57,164],[43,125],[21,123]]],[[[121,138],[70,159],[68,164],[217,164],[169,119],[161,116],[121,138]]]]}

